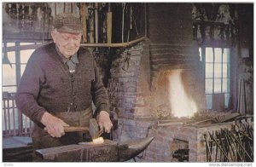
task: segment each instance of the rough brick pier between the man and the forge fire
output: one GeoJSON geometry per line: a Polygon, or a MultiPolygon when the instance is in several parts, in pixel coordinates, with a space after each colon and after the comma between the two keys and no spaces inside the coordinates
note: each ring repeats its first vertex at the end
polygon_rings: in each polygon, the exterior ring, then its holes
{"type": "Polygon", "coordinates": [[[110,106],[119,118],[148,118],[147,44],[138,43],[123,50],[113,60],[108,83],[110,106]],[[126,60],[126,61],[125,61],[126,60]],[[145,66],[143,66],[143,64],[145,66]]]}

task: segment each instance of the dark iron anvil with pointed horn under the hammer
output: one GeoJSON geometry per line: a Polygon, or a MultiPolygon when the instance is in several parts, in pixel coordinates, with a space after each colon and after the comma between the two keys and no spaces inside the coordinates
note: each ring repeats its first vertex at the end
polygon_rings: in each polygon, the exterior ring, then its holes
{"type": "Polygon", "coordinates": [[[105,140],[102,144],[72,144],[37,150],[44,160],[57,162],[123,162],[142,153],[154,140],[153,137],[125,141],[105,140]]]}

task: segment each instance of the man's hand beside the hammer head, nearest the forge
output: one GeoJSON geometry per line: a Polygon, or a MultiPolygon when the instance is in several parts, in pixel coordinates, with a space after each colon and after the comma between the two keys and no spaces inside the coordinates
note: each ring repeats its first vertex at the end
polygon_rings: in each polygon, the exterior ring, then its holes
{"type": "Polygon", "coordinates": [[[108,112],[101,111],[99,113],[98,124],[99,124],[101,130],[104,129],[105,132],[107,132],[107,133],[110,132],[113,124],[111,123],[108,112]]]}

